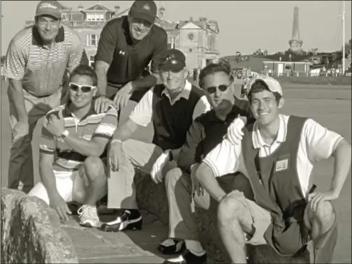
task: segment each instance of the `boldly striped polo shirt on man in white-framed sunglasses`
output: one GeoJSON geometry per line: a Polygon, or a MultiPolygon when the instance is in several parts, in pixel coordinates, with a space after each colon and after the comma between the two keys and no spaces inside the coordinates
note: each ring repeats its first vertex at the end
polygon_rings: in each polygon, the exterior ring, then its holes
{"type": "MultiPolygon", "coordinates": [[[[59,115],[59,111],[63,111],[65,128],[69,133],[75,133],[79,138],[91,140],[95,137],[112,138],[117,128],[117,110],[110,106],[107,112],[98,114],[94,111],[94,103],[91,109],[82,119],[78,119],[69,110],[68,105],[60,105],[51,110],[48,115],[59,115]]],[[[53,169],[55,171],[74,171],[85,161],[84,156],[74,149],[66,145],[63,140],[54,137],[45,127],[42,128],[41,142],[39,144],[39,152],[46,154],[55,154],[53,169]]],[[[105,158],[107,151],[101,155],[105,158]]]]}

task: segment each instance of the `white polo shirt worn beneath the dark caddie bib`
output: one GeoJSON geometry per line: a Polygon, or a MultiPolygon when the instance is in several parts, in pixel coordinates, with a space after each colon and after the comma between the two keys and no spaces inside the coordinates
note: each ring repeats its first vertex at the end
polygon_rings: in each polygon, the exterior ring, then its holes
{"type": "MultiPolygon", "coordinates": [[[[272,145],[267,145],[261,137],[257,122],[252,132],[254,148],[259,149],[259,156],[265,157],[272,154],[285,142],[287,135],[288,115],[279,115],[280,124],[277,138],[272,145]]],[[[326,129],[313,119],[307,119],[300,135],[300,145],[297,154],[297,173],[300,180],[302,193],[307,196],[309,179],[314,163],[328,159],[335,147],[342,140],[342,136],[326,129]]],[[[227,139],[215,147],[203,160],[214,173],[215,177],[241,171],[247,174],[242,156],[242,144],[233,145],[227,139]]]]}

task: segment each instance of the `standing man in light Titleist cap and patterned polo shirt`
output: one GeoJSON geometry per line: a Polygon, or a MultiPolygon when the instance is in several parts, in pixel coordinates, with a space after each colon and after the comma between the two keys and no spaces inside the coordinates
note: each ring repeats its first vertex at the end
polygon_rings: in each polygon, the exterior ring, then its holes
{"type": "Polygon", "coordinates": [[[61,23],[58,1],[40,1],[33,26],[18,32],[6,54],[12,142],[8,188],[34,185],[31,140],[38,119],[60,105],[64,75],[82,59],[80,38],[61,23]]]}

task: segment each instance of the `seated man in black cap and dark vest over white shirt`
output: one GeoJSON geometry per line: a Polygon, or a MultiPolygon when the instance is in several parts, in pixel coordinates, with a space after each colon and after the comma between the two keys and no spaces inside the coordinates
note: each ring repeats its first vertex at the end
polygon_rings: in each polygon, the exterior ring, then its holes
{"type": "Polygon", "coordinates": [[[179,50],[163,52],[159,64],[162,84],[149,89],[129,119],[115,131],[109,151],[108,208],[125,210],[115,221],[104,223],[103,231],[141,228],[134,168],[150,173],[154,182],[162,182],[166,171],[177,166],[173,160],[177,159],[193,119],[210,110],[203,91],[186,80],[185,61],[179,50]],[[138,127],[150,122],[154,126],[152,143],[131,139],[138,127]]]}

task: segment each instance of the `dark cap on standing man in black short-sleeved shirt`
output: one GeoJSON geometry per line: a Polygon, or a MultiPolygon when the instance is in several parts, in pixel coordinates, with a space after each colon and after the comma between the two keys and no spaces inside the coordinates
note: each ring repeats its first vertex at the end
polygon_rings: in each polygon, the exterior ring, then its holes
{"type": "Polygon", "coordinates": [[[154,1],[134,1],[132,3],[129,15],[133,18],[146,20],[150,24],[154,24],[156,17],[156,4],[154,1]]]}

